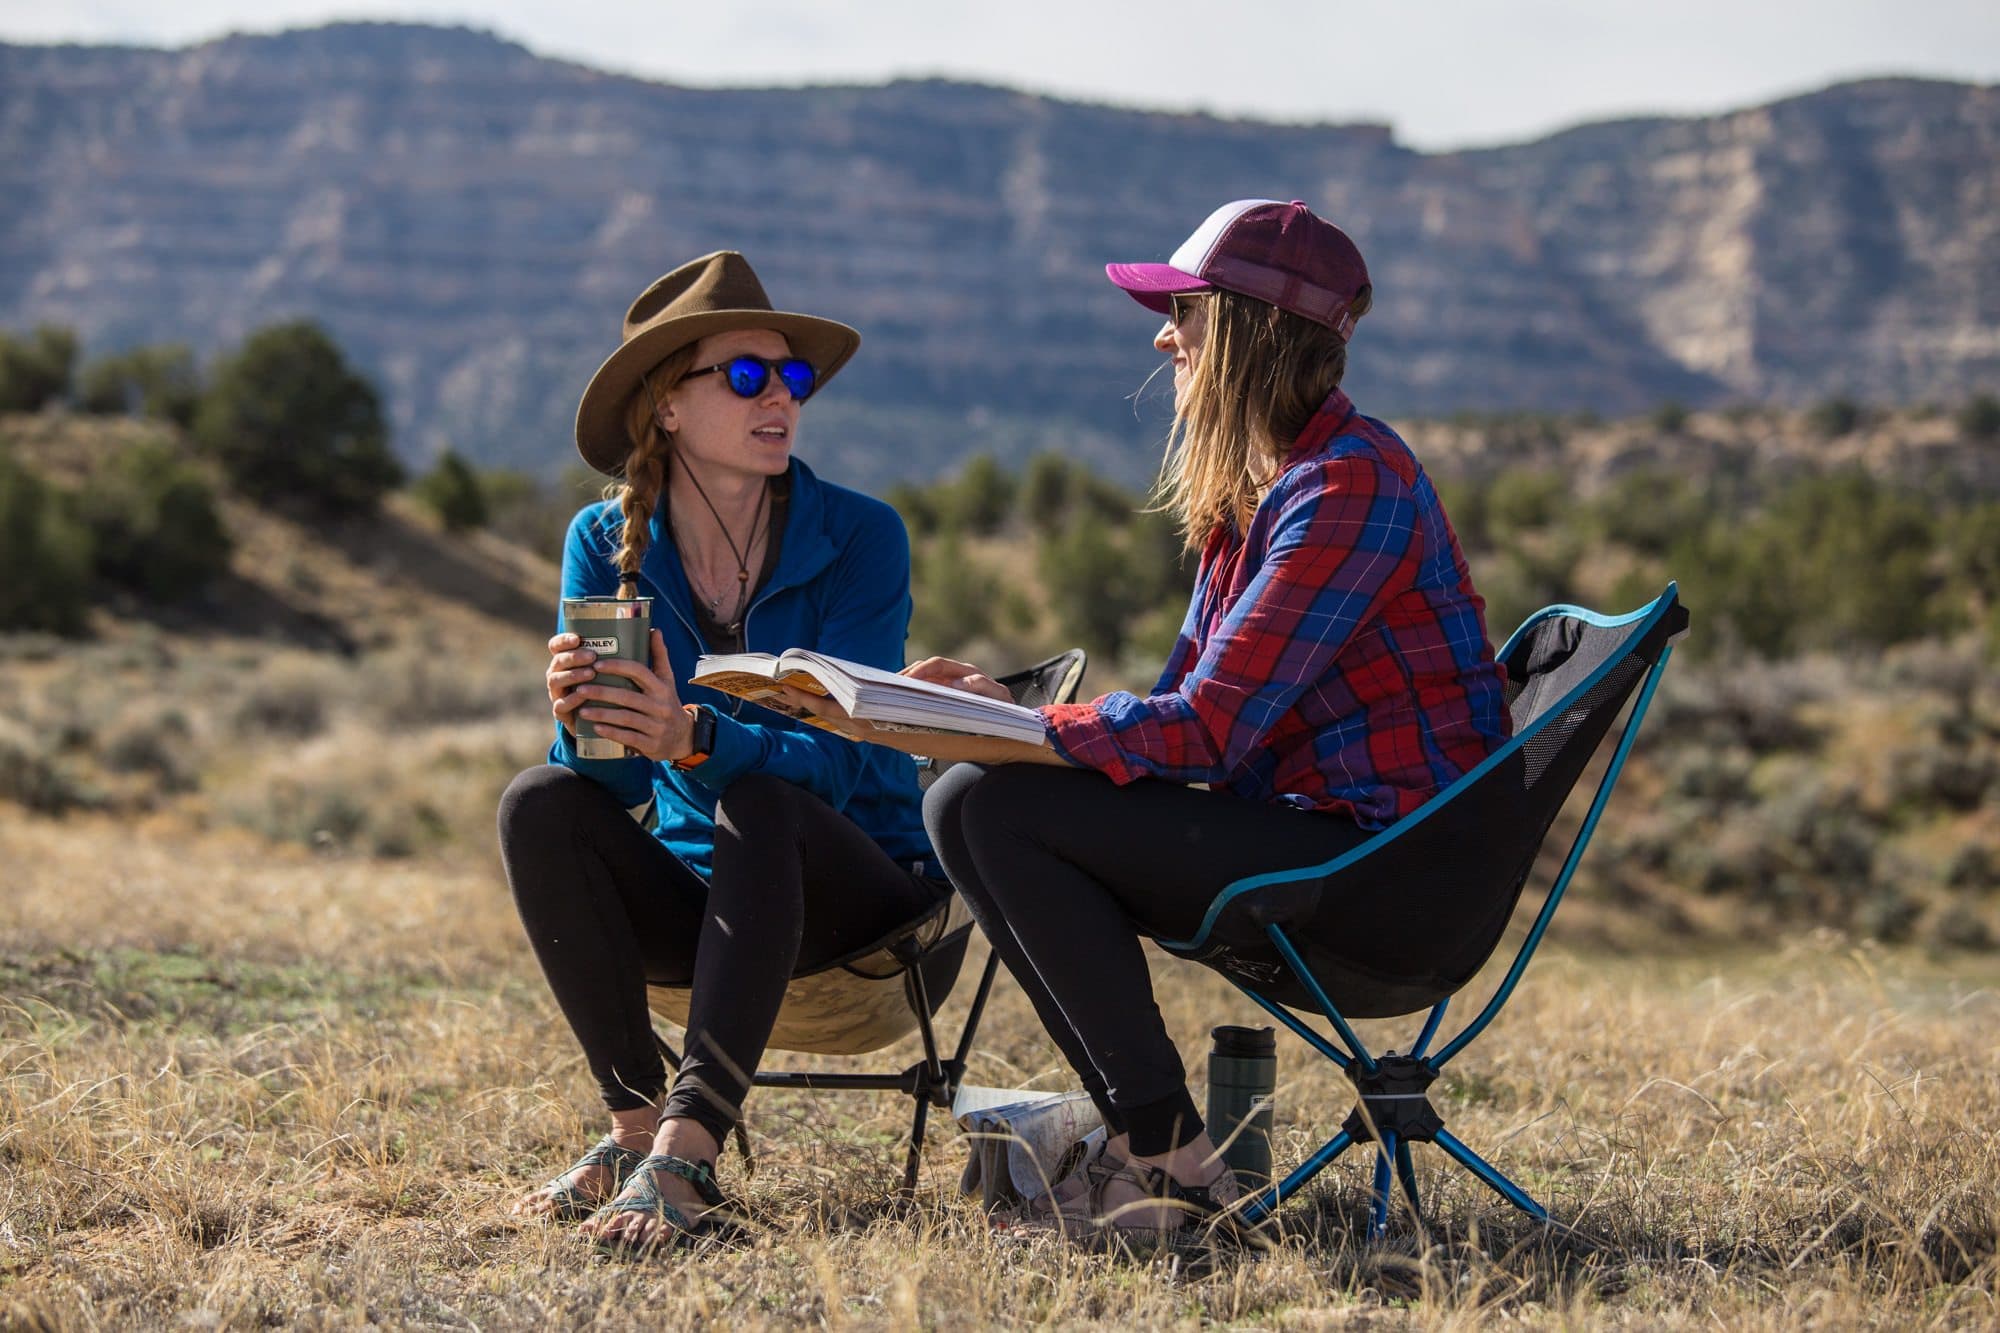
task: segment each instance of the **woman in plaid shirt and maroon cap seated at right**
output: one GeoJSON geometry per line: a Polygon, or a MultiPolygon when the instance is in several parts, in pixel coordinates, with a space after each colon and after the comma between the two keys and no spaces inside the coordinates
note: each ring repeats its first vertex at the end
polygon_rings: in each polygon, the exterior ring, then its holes
{"type": "MultiPolygon", "coordinates": [[[[1144,699],[1044,709],[1048,747],[926,737],[974,763],[930,789],[924,817],[1112,1131],[1056,1205],[1172,1229],[1238,1189],[1142,937],[1186,939],[1230,881],[1330,861],[1418,809],[1506,741],[1508,713],[1438,492],[1340,390],[1370,306],[1354,242],[1300,202],[1240,200],[1166,264],[1106,272],[1166,314],[1160,492],[1202,556],[1194,598],[1144,699]]],[[[966,662],[910,675],[1006,697],[966,662]]],[[[1304,935],[1360,939],[1394,909],[1330,905],[1304,935]]]]}

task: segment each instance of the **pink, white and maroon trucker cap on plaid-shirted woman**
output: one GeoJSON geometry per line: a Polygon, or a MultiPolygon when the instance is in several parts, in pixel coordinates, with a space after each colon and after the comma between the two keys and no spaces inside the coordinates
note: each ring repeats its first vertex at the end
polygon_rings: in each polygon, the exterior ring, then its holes
{"type": "Polygon", "coordinates": [[[1348,234],[1304,202],[1240,198],[1208,214],[1164,264],[1106,264],[1132,300],[1166,314],[1170,296],[1222,286],[1354,336],[1368,266],[1348,234]]]}

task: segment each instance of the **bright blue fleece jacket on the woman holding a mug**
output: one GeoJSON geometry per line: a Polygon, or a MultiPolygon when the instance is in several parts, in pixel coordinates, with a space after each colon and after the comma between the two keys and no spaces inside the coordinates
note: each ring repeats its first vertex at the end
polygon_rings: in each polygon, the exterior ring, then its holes
{"type": "MultiPolygon", "coordinates": [[[[570,522],[562,548],[564,596],[618,592],[618,504],[590,504],[570,522]]],[[[694,630],[694,594],[680,550],[666,532],[666,506],[652,516],[652,544],[640,562],[640,596],[654,598],[652,624],[666,636],[682,703],[716,711],[708,763],[680,771],[650,759],[578,759],[560,725],[548,763],[602,783],[632,809],[656,803],[654,837],[704,879],[716,839],[716,797],[746,773],[796,783],[852,819],[900,865],[942,875],[924,835],[916,765],[880,745],[860,745],[718,691],[688,685],[706,648],[694,630]]],[[[910,630],[910,534],[882,500],[822,482],[792,460],[792,500],[778,568],[744,612],[750,652],[816,648],[854,662],[900,671],[910,630]]]]}

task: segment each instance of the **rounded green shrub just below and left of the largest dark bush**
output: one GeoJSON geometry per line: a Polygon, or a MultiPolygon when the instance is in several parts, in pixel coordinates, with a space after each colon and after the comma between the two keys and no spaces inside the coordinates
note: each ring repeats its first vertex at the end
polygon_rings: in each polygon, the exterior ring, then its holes
{"type": "Polygon", "coordinates": [[[118,452],[80,496],[102,578],[178,600],[230,564],[230,534],[208,476],[158,442],[118,452]]]}

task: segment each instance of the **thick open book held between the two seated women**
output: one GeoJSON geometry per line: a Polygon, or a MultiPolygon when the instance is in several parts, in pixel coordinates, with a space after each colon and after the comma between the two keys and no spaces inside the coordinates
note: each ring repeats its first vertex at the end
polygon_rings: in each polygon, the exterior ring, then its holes
{"type": "Polygon", "coordinates": [[[1048,745],[1042,715],[1016,703],[968,695],[928,681],[898,677],[894,671],[862,666],[824,652],[786,648],[770,652],[708,654],[694,664],[694,685],[798,717],[780,697],[790,685],[840,703],[848,717],[874,723],[882,731],[928,731],[958,737],[1000,737],[1048,745]]]}

